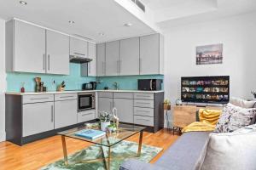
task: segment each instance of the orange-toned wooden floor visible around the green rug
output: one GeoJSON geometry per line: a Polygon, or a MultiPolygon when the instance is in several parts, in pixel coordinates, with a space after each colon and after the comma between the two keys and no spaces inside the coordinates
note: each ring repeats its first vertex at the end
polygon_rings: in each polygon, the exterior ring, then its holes
{"type": "MultiPolygon", "coordinates": [[[[151,162],[154,163],[162,153],[178,138],[166,129],[158,133],[144,133],[143,144],[161,147],[164,150],[151,162]]],[[[131,137],[131,141],[138,141],[138,135],[131,137]]],[[[89,143],[76,139],[67,139],[67,152],[71,154],[89,146],[89,143]]],[[[38,140],[22,147],[9,143],[0,143],[0,170],[32,170],[44,167],[51,162],[62,159],[61,137],[54,136],[38,140]]]]}

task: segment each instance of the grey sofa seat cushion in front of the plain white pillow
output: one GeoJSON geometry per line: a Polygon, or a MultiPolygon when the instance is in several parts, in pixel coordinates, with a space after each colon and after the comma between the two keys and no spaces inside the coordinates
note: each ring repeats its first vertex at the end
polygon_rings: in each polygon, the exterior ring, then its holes
{"type": "Polygon", "coordinates": [[[207,149],[211,132],[189,132],[183,135],[166,150],[155,165],[172,170],[200,169],[207,149]]]}

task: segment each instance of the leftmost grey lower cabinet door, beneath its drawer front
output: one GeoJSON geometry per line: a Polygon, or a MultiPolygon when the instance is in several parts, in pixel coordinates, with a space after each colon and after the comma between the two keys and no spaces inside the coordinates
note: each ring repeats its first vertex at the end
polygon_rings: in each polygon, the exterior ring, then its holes
{"type": "Polygon", "coordinates": [[[22,136],[54,129],[54,102],[23,105],[22,136]]]}

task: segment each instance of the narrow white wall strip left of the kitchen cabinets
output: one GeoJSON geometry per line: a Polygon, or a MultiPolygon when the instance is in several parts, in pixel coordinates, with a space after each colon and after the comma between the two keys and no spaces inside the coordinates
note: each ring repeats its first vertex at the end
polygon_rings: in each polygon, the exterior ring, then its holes
{"type": "Polygon", "coordinates": [[[0,19],[0,142],[5,140],[5,21],[0,19]]]}

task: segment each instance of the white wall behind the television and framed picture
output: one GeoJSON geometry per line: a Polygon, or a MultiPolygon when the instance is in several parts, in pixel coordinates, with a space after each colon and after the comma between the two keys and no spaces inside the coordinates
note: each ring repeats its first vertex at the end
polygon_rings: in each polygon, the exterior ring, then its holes
{"type": "Polygon", "coordinates": [[[196,25],[177,26],[165,32],[166,98],[180,98],[180,78],[230,76],[230,96],[252,99],[256,90],[256,13],[196,25]],[[195,47],[223,43],[222,65],[195,65],[195,47]]]}

